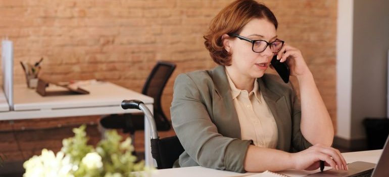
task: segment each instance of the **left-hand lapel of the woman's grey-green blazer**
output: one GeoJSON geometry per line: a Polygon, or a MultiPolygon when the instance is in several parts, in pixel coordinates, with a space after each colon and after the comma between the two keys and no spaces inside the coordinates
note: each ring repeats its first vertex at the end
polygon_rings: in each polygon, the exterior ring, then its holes
{"type": "Polygon", "coordinates": [[[224,66],[210,71],[216,95],[213,96],[214,123],[221,135],[241,139],[239,119],[232,101],[230,86],[224,66]]]}

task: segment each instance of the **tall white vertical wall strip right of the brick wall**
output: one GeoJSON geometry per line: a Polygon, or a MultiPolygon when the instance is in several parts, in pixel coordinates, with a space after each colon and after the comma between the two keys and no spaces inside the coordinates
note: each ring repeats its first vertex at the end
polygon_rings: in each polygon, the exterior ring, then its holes
{"type": "Polygon", "coordinates": [[[351,139],[354,1],[337,1],[336,137],[351,139]]]}

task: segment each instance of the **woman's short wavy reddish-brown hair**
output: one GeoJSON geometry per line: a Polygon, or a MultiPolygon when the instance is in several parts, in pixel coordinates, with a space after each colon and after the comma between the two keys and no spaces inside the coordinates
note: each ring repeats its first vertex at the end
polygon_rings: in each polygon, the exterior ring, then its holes
{"type": "Polygon", "coordinates": [[[231,65],[231,54],[224,50],[222,35],[239,34],[242,28],[254,18],[265,18],[277,29],[278,22],[273,12],[265,5],[253,0],[234,1],[216,15],[204,35],[204,45],[215,63],[231,65]]]}

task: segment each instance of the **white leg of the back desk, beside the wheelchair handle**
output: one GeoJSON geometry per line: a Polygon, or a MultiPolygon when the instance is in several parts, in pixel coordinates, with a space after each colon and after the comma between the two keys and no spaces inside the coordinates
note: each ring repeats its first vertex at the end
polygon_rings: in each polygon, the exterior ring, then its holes
{"type": "MultiPolygon", "coordinates": [[[[147,104],[147,108],[153,113],[153,104],[147,104]]],[[[153,156],[151,155],[150,126],[146,117],[144,117],[144,162],[146,166],[155,167],[153,156]]]]}

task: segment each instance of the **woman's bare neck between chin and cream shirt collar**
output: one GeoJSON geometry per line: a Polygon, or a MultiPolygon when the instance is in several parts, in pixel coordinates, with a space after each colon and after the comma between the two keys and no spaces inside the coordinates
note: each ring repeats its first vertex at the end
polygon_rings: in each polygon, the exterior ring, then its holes
{"type": "Polygon", "coordinates": [[[236,89],[246,90],[247,92],[251,92],[254,89],[255,78],[247,77],[237,72],[234,68],[228,66],[226,66],[226,72],[234,83],[236,89]]]}

